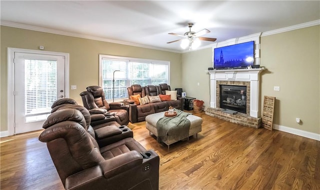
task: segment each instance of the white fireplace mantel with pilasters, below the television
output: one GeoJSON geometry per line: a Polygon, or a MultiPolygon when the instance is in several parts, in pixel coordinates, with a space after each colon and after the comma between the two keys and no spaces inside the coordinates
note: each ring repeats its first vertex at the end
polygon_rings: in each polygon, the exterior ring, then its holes
{"type": "Polygon", "coordinates": [[[210,75],[210,107],[217,108],[216,81],[250,82],[250,116],[260,117],[259,113],[259,73],[264,68],[208,70],[210,75]]]}

